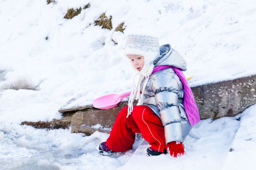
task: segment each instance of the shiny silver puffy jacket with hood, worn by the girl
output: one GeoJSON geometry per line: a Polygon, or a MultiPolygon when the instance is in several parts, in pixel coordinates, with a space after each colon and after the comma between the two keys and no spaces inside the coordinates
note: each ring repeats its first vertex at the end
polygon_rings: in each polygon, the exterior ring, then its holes
{"type": "MultiPolygon", "coordinates": [[[[154,65],[169,65],[187,70],[184,58],[169,44],[160,47],[160,56],[154,65]]],[[[145,79],[141,84],[144,84],[145,79]]],[[[142,87],[141,87],[142,91],[142,87]]],[[[144,91],[143,105],[149,106],[163,123],[166,143],[183,142],[192,126],[188,122],[183,105],[184,88],[172,68],[152,74],[144,91]]]]}

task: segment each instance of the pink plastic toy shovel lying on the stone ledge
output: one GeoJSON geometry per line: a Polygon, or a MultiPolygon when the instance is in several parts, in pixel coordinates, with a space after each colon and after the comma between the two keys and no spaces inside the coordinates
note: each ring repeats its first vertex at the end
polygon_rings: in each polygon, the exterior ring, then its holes
{"type": "Polygon", "coordinates": [[[125,97],[129,96],[131,91],[124,92],[122,94],[108,94],[93,100],[93,107],[95,108],[113,108],[125,97]]]}

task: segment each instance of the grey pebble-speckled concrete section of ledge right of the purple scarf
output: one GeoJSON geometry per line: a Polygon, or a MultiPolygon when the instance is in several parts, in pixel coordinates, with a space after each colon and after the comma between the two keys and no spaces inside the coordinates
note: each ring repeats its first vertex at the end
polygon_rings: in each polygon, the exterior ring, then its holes
{"type": "Polygon", "coordinates": [[[255,89],[256,75],[192,87],[191,89],[195,98],[204,98],[204,100],[206,100],[203,103],[200,103],[199,101],[196,102],[200,118],[218,119],[223,116],[235,116],[244,111],[245,108],[255,104],[255,100],[250,100],[256,97],[255,91],[251,91],[250,88],[246,86],[239,86],[239,84],[242,85],[248,83],[248,80],[250,80],[249,83],[252,88],[255,89]],[[223,89],[222,91],[225,91],[225,95],[222,95],[222,92],[221,94],[218,94],[221,89],[223,89]],[[231,89],[231,91],[228,91],[228,89],[231,89]],[[204,93],[207,90],[209,92],[204,93]],[[240,105],[240,102],[242,101],[244,102],[240,105]]]}

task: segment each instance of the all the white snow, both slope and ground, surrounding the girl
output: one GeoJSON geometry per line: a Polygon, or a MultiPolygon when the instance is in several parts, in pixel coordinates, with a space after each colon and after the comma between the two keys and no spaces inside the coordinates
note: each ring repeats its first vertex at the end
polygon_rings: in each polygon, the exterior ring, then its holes
{"type": "MultiPolygon", "coordinates": [[[[0,169],[133,167],[129,162],[135,149],[116,157],[96,154],[95,147],[108,134],[86,137],[71,134],[70,129],[41,130],[20,125],[22,121],[60,119],[57,110],[75,96],[83,98],[70,103],[71,107],[91,104],[102,95],[130,91],[134,72],[123,56],[123,46],[125,35],[132,29],[151,29],[159,35],[160,44],[169,43],[180,52],[187,61],[185,76],[193,76],[188,81],[191,87],[256,74],[253,0],[58,0],[56,4],[47,4],[46,0],[0,0],[0,23],[0,169]],[[89,2],[91,7],[78,16],[63,18],[69,8],[89,2]],[[111,31],[93,24],[103,12],[112,16],[111,31]],[[122,22],[124,33],[114,32],[122,22]]],[[[180,161],[164,155],[139,155],[138,160],[154,159],[165,166],[166,162],[160,160],[164,157],[180,169],[189,165],[189,169],[203,169],[207,163],[228,168],[235,166],[232,160],[238,162],[241,153],[242,161],[251,160],[249,146],[254,149],[251,143],[255,131],[253,123],[242,122],[250,121],[254,107],[244,112],[239,129],[239,121],[233,118],[200,122],[194,128],[201,138],[186,139],[187,154],[180,161]],[[237,129],[245,133],[249,127],[252,131],[248,138],[238,135],[233,141],[237,129]],[[240,146],[240,139],[241,143],[250,140],[240,146]]],[[[142,141],[136,142],[138,147],[142,141]]]]}

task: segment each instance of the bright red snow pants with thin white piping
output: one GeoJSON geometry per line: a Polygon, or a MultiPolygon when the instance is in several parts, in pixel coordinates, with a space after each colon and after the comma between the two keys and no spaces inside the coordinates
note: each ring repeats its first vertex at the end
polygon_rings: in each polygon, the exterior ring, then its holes
{"type": "Polygon", "coordinates": [[[109,149],[125,152],[131,149],[135,141],[135,133],[141,133],[149,142],[151,149],[163,152],[165,148],[165,132],[159,117],[147,105],[133,106],[132,114],[126,118],[128,106],[117,115],[116,122],[106,141],[109,149]]]}

